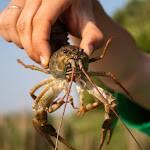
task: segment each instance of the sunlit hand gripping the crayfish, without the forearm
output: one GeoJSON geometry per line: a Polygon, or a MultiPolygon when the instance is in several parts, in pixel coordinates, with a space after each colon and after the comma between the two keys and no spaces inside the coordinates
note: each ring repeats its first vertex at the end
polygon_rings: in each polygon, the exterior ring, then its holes
{"type": "Polygon", "coordinates": [[[102,46],[103,34],[95,25],[92,0],[12,0],[0,13],[0,34],[47,68],[51,27],[60,15],[69,33],[82,38],[80,47],[88,55],[102,46]]]}

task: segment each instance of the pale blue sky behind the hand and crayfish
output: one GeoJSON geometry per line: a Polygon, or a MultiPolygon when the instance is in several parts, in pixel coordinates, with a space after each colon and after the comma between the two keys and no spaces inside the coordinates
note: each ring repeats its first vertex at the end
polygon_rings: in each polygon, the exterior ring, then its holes
{"type": "MultiPolygon", "coordinates": [[[[0,1],[0,12],[9,4],[10,0],[0,1]]],[[[128,0],[100,0],[105,11],[112,16],[115,10],[122,8],[128,0]]],[[[0,36],[0,115],[25,110],[32,111],[33,100],[29,91],[37,83],[49,75],[23,68],[16,59],[21,59],[29,65],[36,65],[30,60],[25,51],[17,48],[13,43],[7,43],[0,36]]],[[[74,91],[74,89],[72,90],[74,91]]],[[[77,97],[76,92],[71,93],[77,97]]]]}

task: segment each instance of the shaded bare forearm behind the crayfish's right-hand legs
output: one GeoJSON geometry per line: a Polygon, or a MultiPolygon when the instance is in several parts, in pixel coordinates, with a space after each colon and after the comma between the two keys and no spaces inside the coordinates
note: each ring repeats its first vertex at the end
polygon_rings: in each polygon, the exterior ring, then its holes
{"type": "MultiPolygon", "coordinates": [[[[94,14],[97,26],[104,34],[104,41],[116,36],[106,51],[102,60],[90,64],[91,71],[111,72],[133,96],[135,102],[150,109],[150,57],[138,51],[133,37],[120,25],[109,18],[96,0],[94,14]]],[[[74,40],[77,44],[77,41],[74,40]]],[[[104,44],[105,45],[105,44],[104,44]]],[[[99,56],[103,48],[93,53],[91,57],[99,56]]],[[[99,77],[109,88],[123,93],[112,79],[99,77]]]]}

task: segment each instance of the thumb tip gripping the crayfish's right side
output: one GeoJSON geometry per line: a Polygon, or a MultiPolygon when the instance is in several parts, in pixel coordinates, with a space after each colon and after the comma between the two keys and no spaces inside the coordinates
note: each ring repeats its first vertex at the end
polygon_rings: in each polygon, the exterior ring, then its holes
{"type": "Polygon", "coordinates": [[[84,49],[87,55],[91,55],[94,49],[103,45],[104,36],[98,27],[91,21],[87,22],[82,30],[82,41],[80,47],[84,49]]]}

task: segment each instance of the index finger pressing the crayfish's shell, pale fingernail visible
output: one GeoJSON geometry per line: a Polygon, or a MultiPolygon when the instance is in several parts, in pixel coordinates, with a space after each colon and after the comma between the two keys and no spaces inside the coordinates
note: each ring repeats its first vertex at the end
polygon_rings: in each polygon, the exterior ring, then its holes
{"type": "Polygon", "coordinates": [[[50,57],[50,31],[58,16],[69,6],[67,0],[43,1],[33,20],[32,44],[43,66],[47,66],[50,57]]]}

